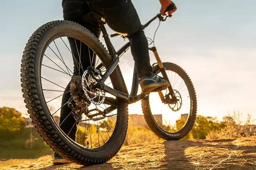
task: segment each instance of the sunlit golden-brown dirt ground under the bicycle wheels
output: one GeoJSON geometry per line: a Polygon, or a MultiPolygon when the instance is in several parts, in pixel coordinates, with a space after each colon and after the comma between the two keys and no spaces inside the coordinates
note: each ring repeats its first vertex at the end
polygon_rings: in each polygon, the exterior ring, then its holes
{"type": "MultiPolygon", "coordinates": [[[[232,140],[164,141],[123,147],[109,162],[84,167],[51,165],[51,155],[9,160],[2,170],[256,170],[256,137],[232,140]],[[19,165],[18,165],[19,164],[19,165]]],[[[0,162],[4,163],[4,162],[0,162]]]]}

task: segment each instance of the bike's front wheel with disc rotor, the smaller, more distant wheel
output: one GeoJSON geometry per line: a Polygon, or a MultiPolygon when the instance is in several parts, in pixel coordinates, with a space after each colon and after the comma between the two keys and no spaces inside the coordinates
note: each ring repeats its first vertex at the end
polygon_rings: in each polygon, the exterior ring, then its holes
{"type": "MultiPolygon", "coordinates": [[[[178,102],[168,101],[170,93],[166,89],[162,91],[162,99],[159,98],[158,93],[150,93],[148,97],[143,98],[141,101],[142,111],[149,128],[157,136],[165,140],[179,140],[184,138],[194,125],[197,113],[196,92],[193,83],[181,67],[169,62],[163,63],[163,66],[166,68],[178,102]],[[182,97],[183,93],[186,94],[182,97]],[[187,107],[186,104],[190,106],[187,107]],[[153,110],[156,114],[152,113],[153,110]],[[178,115],[177,112],[182,114],[178,115]]],[[[155,74],[162,76],[158,65],[154,66],[153,70],[155,74]]]]}

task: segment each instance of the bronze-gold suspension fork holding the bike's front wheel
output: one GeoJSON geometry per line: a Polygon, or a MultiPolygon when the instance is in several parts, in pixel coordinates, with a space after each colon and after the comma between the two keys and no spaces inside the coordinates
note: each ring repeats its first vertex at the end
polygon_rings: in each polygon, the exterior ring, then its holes
{"type": "MultiPolygon", "coordinates": [[[[168,76],[166,74],[166,71],[165,71],[165,67],[163,66],[163,63],[162,63],[162,61],[161,61],[161,59],[160,59],[160,57],[159,57],[159,55],[157,53],[157,48],[156,47],[150,47],[149,50],[154,53],[154,55],[156,57],[156,60],[157,60],[157,64],[158,64],[158,66],[160,68],[160,72],[163,75],[163,78],[166,79],[170,83],[170,86],[168,87],[168,90],[170,92],[170,95],[172,96],[172,102],[177,102],[177,98],[176,98],[176,96],[175,96],[175,94],[173,92],[172,84],[169,81],[169,78],[168,78],[168,76]]],[[[164,101],[163,92],[159,91],[158,94],[159,94],[159,96],[160,96],[160,98],[161,98],[161,100],[163,102],[164,101]]]]}

